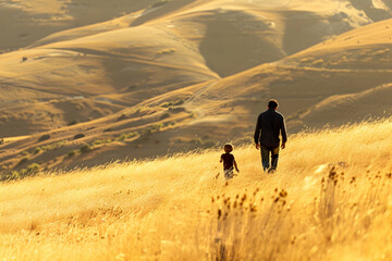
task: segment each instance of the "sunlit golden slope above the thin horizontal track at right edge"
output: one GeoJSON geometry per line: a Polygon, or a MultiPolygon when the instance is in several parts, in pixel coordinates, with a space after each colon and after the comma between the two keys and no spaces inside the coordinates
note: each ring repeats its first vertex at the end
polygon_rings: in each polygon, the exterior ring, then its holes
{"type": "Polygon", "coordinates": [[[392,20],[350,30],[285,61],[324,69],[391,69],[392,20]],[[315,58],[322,59],[317,64],[315,58]]]}

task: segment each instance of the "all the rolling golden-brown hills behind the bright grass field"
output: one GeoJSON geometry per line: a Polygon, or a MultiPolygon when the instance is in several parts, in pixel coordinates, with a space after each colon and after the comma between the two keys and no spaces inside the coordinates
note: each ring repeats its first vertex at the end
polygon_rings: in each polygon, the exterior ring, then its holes
{"type": "Polygon", "coordinates": [[[252,142],[392,112],[387,0],[0,2],[0,170],[252,142]]]}

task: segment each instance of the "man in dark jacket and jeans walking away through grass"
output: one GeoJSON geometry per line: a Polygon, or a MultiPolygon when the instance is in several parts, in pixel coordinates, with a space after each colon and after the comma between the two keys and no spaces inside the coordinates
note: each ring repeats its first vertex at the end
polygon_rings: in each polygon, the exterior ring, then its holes
{"type": "Polygon", "coordinates": [[[261,162],[264,171],[272,173],[278,167],[279,147],[285,148],[287,141],[284,117],[277,112],[278,101],[272,99],[268,102],[268,110],[262,112],[257,119],[255,130],[256,149],[261,150],[261,162]],[[282,134],[282,145],[280,146],[279,135],[282,134]],[[271,153],[271,166],[270,166],[271,153]]]}

